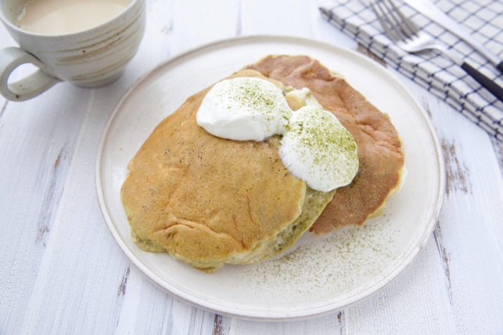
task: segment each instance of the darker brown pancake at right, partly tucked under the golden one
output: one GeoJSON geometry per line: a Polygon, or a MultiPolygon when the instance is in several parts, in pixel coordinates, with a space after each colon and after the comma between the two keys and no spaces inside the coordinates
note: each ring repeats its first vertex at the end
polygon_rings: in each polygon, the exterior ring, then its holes
{"type": "Polygon", "coordinates": [[[358,143],[358,174],[349,186],[337,189],[311,230],[323,233],[339,225],[361,225],[380,214],[388,196],[399,187],[404,166],[402,143],[388,115],[307,56],[268,56],[247,68],[296,89],[307,87],[358,143]]]}

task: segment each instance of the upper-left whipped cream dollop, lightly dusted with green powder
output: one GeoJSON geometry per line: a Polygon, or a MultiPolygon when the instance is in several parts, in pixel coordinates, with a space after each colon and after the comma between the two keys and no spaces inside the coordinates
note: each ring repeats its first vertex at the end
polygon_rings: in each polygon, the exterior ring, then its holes
{"type": "Polygon", "coordinates": [[[214,84],[196,115],[208,133],[229,140],[263,141],[281,134],[291,113],[281,89],[255,77],[214,84]]]}

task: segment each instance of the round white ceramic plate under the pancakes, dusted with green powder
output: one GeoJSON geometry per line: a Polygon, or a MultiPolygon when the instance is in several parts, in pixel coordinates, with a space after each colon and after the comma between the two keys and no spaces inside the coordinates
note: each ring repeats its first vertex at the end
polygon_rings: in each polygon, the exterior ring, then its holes
{"type": "Polygon", "coordinates": [[[397,276],[428,239],[444,193],[444,166],[425,112],[388,71],[356,52],[302,38],[258,36],[199,47],[154,68],[122,98],[96,160],[103,215],[119,246],[171,295],[216,313],[261,320],[323,315],[368,297],[397,276]],[[126,166],[156,124],[185,98],[268,54],[307,54],[342,73],[390,115],[404,142],[408,177],[386,214],[362,227],[305,234],[284,255],[205,274],[131,241],[120,200],[126,166]]]}

